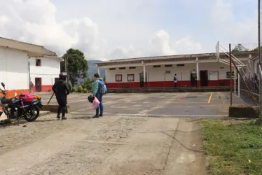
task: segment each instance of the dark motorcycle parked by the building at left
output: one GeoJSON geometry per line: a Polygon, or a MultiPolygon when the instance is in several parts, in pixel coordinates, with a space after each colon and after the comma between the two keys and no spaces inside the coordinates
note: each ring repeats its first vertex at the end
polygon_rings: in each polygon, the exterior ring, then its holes
{"type": "MultiPolygon", "coordinates": [[[[1,83],[1,85],[4,87],[4,90],[0,88],[0,92],[3,94],[3,96],[0,97],[0,107],[3,109],[7,118],[16,119],[18,121],[24,118],[27,122],[32,122],[39,117],[39,109],[43,108],[41,97],[28,103],[23,102],[22,99],[17,97],[8,99],[6,98],[6,85],[4,83],[1,83]]],[[[3,111],[0,112],[0,117],[3,114],[3,111]]]]}

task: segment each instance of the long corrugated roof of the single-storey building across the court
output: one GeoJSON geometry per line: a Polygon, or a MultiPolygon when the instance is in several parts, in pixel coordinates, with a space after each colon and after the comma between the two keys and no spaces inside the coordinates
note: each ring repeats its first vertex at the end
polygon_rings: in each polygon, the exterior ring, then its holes
{"type": "MultiPolygon", "coordinates": [[[[237,52],[233,55],[237,56],[249,56],[249,54],[258,54],[254,51],[237,52]]],[[[220,57],[226,57],[225,52],[220,53],[220,57]]],[[[200,53],[200,54],[188,54],[188,55],[167,55],[167,56],[156,56],[156,57],[136,57],[127,59],[111,59],[107,62],[96,63],[98,66],[112,65],[112,64],[123,64],[123,63],[138,63],[138,62],[169,62],[169,61],[186,61],[198,59],[216,59],[216,52],[211,53],[200,53]]]]}

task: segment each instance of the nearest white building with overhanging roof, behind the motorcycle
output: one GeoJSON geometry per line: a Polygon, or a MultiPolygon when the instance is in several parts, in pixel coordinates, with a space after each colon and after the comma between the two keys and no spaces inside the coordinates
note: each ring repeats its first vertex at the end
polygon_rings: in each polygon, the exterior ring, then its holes
{"type": "Polygon", "coordinates": [[[0,82],[6,84],[7,96],[29,92],[29,57],[55,57],[55,52],[34,45],[0,37],[0,82]]]}

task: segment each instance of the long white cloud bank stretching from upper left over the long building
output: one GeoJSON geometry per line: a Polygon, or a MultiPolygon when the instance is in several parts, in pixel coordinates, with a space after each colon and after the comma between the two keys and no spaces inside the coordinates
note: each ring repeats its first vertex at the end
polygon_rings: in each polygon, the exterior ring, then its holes
{"type": "MultiPolygon", "coordinates": [[[[97,23],[88,17],[58,22],[57,7],[50,0],[0,0],[0,3],[0,36],[44,45],[57,55],[64,54],[69,48],[77,48],[85,53],[86,59],[105,60],[201,50],[200,43],[195,43],[189,36],[174,42],[165,30],[156,32],[143,48],[130,43],[128,47],[118,44],[106,50],[106,38],[102,38],[97,23]]],[[[137,3],[134,6],[138,6],[137,3]]]]}

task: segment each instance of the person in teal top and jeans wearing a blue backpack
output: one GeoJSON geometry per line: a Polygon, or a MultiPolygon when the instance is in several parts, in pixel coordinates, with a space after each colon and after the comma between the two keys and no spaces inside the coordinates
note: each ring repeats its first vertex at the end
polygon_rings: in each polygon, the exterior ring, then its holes
{"type": "Polygon", "coordinates": [[[104,105],[103,105],[103,92],[100,81],[103,81],[103,78],[99,77],[98,73],[95,73],[93,77],[94,83],[92,83],[92,95],[94,97],[97,97],[98,101],[100,102],[99,106],[97,106],[97,109],[95,111],[95,116],[92,118],[99,118],[103,116],[104,112],[104,105]],[[100,111],[100,113],[99,113],[100,111]]]}

